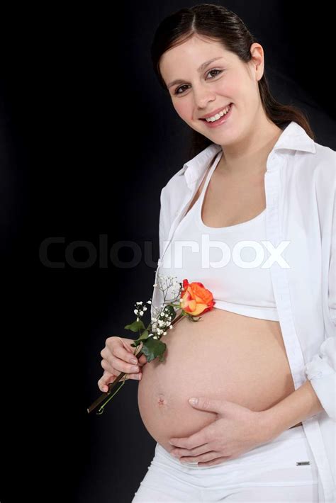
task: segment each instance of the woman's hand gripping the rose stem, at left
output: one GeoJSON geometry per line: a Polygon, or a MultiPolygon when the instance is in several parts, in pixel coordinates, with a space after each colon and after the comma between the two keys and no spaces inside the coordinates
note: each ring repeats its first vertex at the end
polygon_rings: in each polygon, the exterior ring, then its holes
{"type": "Polygon", "coordinates": [[[121,373],[125,372],[127,375],[121,379],[121,382],[127,379],[141,379],[141,368],[147,363],[147,358],[144,354],[138,358],[134,355],[134,351],[140,353],[140,349],[131,346],[133,339],[126,339],[122,337],[108,337],[105,341],[105,347],[101,350],[101,366],[104,373],[98,381],[98,387],[101,391],[108,391],[108,384],[113,383],[114,380],[121,373]],[[132,363],[132,359],[136,362],[132,363]],[[138,366],[138,368],[135,368],[138,366]]]}

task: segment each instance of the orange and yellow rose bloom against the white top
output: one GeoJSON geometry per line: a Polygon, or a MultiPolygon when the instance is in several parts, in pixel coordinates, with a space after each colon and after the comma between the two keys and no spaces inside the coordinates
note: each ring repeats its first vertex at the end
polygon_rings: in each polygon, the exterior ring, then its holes
{"type": "Polygon", "coordinates": [[[189,315],[198,316],[212,310],[215,302],[211,291],[204,288],[202,283],[197,281],[189,283],[187,279],[184,279],[180,305],[181,309],[189,315]]]}

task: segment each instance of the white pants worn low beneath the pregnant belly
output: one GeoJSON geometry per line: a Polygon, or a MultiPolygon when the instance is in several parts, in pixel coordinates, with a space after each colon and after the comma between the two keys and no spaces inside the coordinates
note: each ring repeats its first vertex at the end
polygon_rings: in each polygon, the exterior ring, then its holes
{"type": "Polygon", "coordinates": [[[159,443],[132,503],[318,502],[318,468],[303,426],[220,465],[181,463],[159,443]],[[297,465],[297,462],[309,464],[297,465]]]}

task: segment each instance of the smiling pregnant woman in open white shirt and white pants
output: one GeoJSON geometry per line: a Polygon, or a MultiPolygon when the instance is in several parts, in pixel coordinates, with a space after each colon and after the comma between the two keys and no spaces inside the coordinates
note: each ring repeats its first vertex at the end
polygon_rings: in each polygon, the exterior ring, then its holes
{"type": "Polygon", "coordinates": [[[152,60],[195,140],[162,189],[157,274],[200,281],[215,307],[138,373],[130,340],[101,351],[101,390],[139,378],[157,442],[133,502],[335,501],[335,152],[271,96],[262,46],[228,9],[164,19],[152,60]]]}

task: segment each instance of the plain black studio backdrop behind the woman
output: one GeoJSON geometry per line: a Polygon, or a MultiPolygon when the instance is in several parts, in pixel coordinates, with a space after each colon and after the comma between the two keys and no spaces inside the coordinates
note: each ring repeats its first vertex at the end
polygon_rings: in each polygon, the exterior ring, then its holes
{"type": "MultiPolygon", "coordinates": [[[[130,337],[133,304],[152,296],[159,193],[188,160],[189,130],[155,80],[150,43],[164,16],[193,5],[1,6],[1,503],[131,502],[150,465],[136,381],[101,416],[86,407],[100,395],[106,337],[130,337]],[[48,254],[64,267],[40,258],[47,238],[60,238],[48,254]],[[128,240],[137,265],[100,262],[128,240]],[[91,266],[79,267],[88,252],[77,241],[96,250],[91,266]]],[[[223,5],[263,45],[272,94],[336,150],[331,7],[223,5]]]]}

